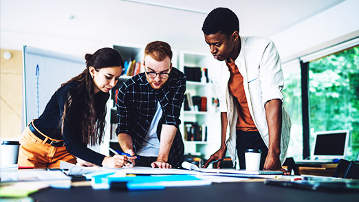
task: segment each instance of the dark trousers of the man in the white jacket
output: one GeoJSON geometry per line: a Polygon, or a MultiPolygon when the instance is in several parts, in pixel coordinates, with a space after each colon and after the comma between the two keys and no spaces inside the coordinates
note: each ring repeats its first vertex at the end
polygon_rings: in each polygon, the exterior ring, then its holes
{"type": "Polygon", "coordinates": [[[263,170],[265,158],[268,155],[268,148],[265,146],[265,143],[259,134],[258,131],[246,132],[246,131],[236,131],[237,134],[237,153],[239,158],[239,167],[241,169],[246,169],[246,159],[244,157],[244,151],[248,148],[260,149],[261,154],[261,164],[259,166],[260,170],[263,170]]]}

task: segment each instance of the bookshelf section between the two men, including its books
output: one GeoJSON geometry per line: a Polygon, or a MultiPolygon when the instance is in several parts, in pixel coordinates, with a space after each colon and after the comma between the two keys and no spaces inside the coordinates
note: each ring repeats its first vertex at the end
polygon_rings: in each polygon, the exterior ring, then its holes
{"type": "Polygon", "coordinates": [[[204,70],[208,67],[210,57],[210,54],[198,52],[180,51],[178,54],[178,68],[187,77],[186,99],[182,105],[180,117],[182,124],[179,126],[184,138],[184,153],[191,153],[191,155],[199,155],[204,158],[209,158],[218,150],[221,142],[221,120],[217,96],[212,83],[207,79],[208,70],[204,70]],[[201,99],[200,106],[193,106],[195,102],[190,104],[192,106],[187,106],[188,100],[195,101],[193,98],[203,97],[206,100],[201,99]],[[202,108],[203,104],[206,107],[202,108]],[[197,131],[200,131],[198,133],[202,133],[199,138],[198,135],[195,135],[198,134],[195,129],[197,126],[199,128],[197,131]],[[204,135],[206,137],[203,137],[204,135]]]}

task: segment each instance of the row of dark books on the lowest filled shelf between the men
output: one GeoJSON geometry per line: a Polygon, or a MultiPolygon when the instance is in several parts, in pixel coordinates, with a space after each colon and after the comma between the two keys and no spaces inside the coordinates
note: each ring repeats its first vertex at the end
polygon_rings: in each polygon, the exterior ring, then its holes
{"type": "Polygon", "coordinates": [[[184,140],[206,142],[207,126],[197,122],[184,122],[184,140]]]}

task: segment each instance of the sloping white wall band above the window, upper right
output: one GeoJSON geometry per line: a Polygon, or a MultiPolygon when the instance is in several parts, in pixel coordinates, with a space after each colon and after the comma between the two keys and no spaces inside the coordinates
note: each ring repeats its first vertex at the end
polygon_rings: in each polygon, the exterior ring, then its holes
{"type": "Polygon", "coordinates": [[[283,30],[274,41],[282,62],[359,36],[359,1],[347,0],[283,30]]]}

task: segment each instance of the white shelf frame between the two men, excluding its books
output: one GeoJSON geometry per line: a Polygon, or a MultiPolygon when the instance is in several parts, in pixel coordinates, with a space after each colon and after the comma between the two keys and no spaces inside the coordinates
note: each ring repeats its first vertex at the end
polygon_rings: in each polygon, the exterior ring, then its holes
{"type": "MultiPolygon", "coordinates": [[[[184,67],[202,67],[208,68],[209,54],[197,52],[180,51],[178,56],[178,67],[184,72],[184,67]]],[[[208,69],[209,71],[209,69],[208,69]]],[[[201,155],[209,158],[219,149],[221,140],[221,120],[219,109],[213,106],[213,98],[217,98],[215,89],[210,82],[186,82],[186,93],[191,96],[204,96],[207,98],[207,111],[184,111],[182,105],[181,121],[179,129],[182,136],[185,134],[184,122],[197,122],[199,125],[207,126],[207,141],[186,141],[184,139],[185,154],[201,155]]]]}

